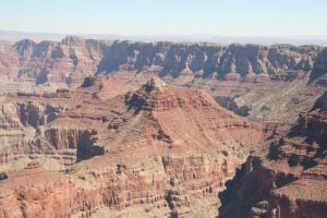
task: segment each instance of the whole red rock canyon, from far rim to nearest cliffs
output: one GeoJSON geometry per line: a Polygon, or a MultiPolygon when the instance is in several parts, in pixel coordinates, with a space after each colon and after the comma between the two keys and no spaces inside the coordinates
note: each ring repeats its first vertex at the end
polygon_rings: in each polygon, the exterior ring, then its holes
{"type": "Polygon", "coordinates": [[[0,45],[0,218],[323,218],[327,48],[0,45]]]}

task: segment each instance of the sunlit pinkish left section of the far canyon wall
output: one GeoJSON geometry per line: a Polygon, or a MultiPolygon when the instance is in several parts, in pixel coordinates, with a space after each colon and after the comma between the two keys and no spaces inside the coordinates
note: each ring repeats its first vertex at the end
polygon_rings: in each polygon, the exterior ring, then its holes
{"type": "MultiPolygon", "coordinates": [[[[34,80],[36,84],[81,85],[87,75],[96,72],[105,48],[100,41],[74,36],[68,36],[61,43],[21,40],[13,46],[15,51],[7,51],[8,57],[19,60],[15,68],[19,70],[11,78],[34,80]]],[[[9,66],[15,66],[14,63],[16,61],[9,66]]]]}

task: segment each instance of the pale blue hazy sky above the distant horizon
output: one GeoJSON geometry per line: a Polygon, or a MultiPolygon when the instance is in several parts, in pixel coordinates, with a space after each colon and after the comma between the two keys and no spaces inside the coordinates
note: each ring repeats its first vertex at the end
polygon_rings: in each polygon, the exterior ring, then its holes
{"type": "Polygon", "coordinates": [[[327,36],[327,0],[1,0],[0,29],[118,35],[327,36]]]}

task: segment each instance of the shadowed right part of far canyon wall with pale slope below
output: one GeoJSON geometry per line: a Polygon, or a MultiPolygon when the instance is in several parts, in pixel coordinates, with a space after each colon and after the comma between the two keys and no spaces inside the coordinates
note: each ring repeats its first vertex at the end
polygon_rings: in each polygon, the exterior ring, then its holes
{"type": "Polygon", "coordinates": [[[122,41],[108,48],[98,73],[137,85],[159,75],[168,84],[206,89],[223,107],[254,121],[294,123],[326,90],[323,82],[308,83],[316,61],[316,69],[324,70],[320,51],[315,46],[122,41]]]}

